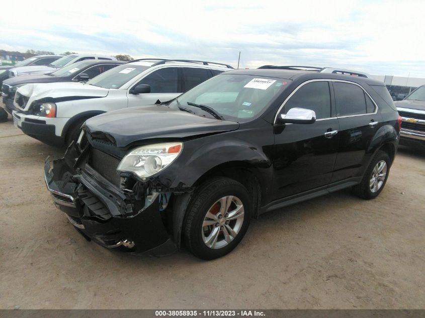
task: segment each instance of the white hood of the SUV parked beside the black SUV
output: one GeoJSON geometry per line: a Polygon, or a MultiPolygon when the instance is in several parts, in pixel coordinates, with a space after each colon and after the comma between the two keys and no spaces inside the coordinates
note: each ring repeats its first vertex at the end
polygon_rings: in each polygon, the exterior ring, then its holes
{"type": "Polygon", "coordinates": [[[31,107],[31,103],[39,99],[52,98],[53,101],[58,102],[61,99],[105,97],[108,95],[109,89],[83,83],[58,82],[26,84],[19,87],[17,92],[29,97],[24,108],[27,111],[31,107]]]}

